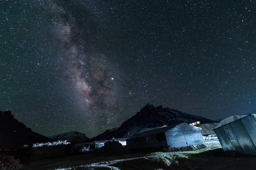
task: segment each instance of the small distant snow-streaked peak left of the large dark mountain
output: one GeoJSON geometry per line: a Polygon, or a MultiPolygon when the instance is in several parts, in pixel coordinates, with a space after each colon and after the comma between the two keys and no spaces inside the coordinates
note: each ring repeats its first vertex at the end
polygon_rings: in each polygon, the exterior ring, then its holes
{"type": "Polygon", "coordinates": [[[84,133],[80,133],[78,131],[62,133],[55,136],[50,136],[50,138],[54,139],[55,141],[67,140],[67,142],[71,143],[85,143],[89,140],[89,138],[87,138],[84,133]]]}

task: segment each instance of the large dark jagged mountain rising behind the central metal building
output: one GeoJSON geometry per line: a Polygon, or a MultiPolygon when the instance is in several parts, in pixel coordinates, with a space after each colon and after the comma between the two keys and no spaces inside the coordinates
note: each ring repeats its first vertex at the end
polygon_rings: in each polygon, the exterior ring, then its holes
{"type": "Polygon", "coordinates": [[[104,133],[91,139],[91,141],[107,140],[114,138],[129,138],[135,133],[145,131],[145,128],[157,128],[163,125],[172,125],[177,122],[193,123],[200,121],[201,123],[214,123],[217,121],[183,113],[175,109],[163,108],[161,105],[147,104],[144,108],[137,112],[136,115],[122,123],[118,128],[106,130],[104,133]]]}

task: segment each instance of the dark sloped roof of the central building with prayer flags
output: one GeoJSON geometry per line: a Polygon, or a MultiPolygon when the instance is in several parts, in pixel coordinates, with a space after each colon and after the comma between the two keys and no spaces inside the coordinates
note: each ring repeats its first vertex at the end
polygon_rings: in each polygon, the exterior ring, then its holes
{"type": "Polygon", "coordinates": [[[167,130],[172,129],[173,127],[180,125],[181,123],[184,123],[184,122],[179,122],[179,123],[176,123],[173,125],[169,125],[167,127],[160,127],[157,129],[145,131],[143,133],[135,134],[134,136],[131,136],[130,139],[141,138],[141,137],[150,136],[150,135],[157,134],[157,133],[165,133],[167,130]]]}

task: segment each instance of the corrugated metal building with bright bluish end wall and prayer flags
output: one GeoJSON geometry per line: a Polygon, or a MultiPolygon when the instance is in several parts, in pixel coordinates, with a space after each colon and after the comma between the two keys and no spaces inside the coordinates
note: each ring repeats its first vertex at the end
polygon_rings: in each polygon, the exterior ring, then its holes
{"type": "Polygon", "coordinates": [[[143,147],[184,147],[203,144],[201,128],[186,122],[149,130],[126,139],[128,149],[143,147]]]}

